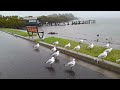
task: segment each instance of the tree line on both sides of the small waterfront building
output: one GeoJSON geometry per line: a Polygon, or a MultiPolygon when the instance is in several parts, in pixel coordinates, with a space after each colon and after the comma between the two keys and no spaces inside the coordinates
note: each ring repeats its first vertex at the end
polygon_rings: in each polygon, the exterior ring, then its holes
{"type": "MultiPolygon", "coordinates": [[[[58,23],[68,22],[70,20],[77,19],[73,14],[52,14],[48,16],[38,16],[37,19],[41,24],[56,25],[58,23]]],[[[23,20],[23,17],[18,16],[2,16],[0,15],[0,27],[2,28],[21,28],[25,27],[26,21],[23,20]]]]}

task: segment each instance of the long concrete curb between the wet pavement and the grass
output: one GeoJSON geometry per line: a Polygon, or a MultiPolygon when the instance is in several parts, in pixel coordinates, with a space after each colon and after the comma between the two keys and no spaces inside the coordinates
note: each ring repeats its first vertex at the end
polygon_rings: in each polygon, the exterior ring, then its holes
{"type": "MultiPolygon", "coordinates": [[[[16,34],[15,34],[16,35],[16,34]]],[[[23,38],[23,39],[26,39],[26,40],[29,40],[29,41],[32,41],[32,39],[29,39],[29,38],[26,38],[24,36],[20,36],[20,35],[16,35],[17,37],[20,37],[20,38],[23,38]]],[[[51,45],[51,44],[48,44],[48,43],[45,43],[45,42],[40,42],[40,45],[44,46],[44,47],[47,47],[49,49],[53,48],[54,45],[51,45]]],[[[102,61],[102,59],[99,59],[97,57],[93,57],[93,56],[89,56],[89,55],[85,55],[85,54],[82,54],[82,53],[77,53],[75,51],[71,51],[71,50],[67,50],[65,48],[62,48],[62,47],[59,47],[57,46],[57,49],[63,53],[63,54],[66,54],[66,55],[69,55],[69,56],[72,56],[76,59],[80,59],[80,60],[83,60],[85,62],[88,62],[88,63],[91,63],[91,64],[94,64],[96,66],[99,66],[99,67],[102,67],[104,69],[107,69],[107,70],[110,70],[110,71],[114,71],[116,73],[119,73],[120,74],[120,65],[119,64],[116,64],[116,63],[113,63],[113,62],[110,62],[110,61],[102,61]],[[96,59],[99,59],[99,63],[96,62],[96,59]]]]}

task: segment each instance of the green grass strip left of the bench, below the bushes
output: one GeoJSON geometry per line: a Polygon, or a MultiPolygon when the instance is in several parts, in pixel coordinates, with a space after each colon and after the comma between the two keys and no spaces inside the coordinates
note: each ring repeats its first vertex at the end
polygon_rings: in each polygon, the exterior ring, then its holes
{"type": "MultiPolygon", "coordinates": [[[[10,33],[21,35],[21,36],[24,36],[24,37],[29,36],[27,32],[23,32],[23,31],[20,31],[20,30],[9,29],[9,28],[0,28],[0,31],[10,32],[10,33]]],[[[36,34],[34,34],[33,36],[36,36],[36,34]]]]}

